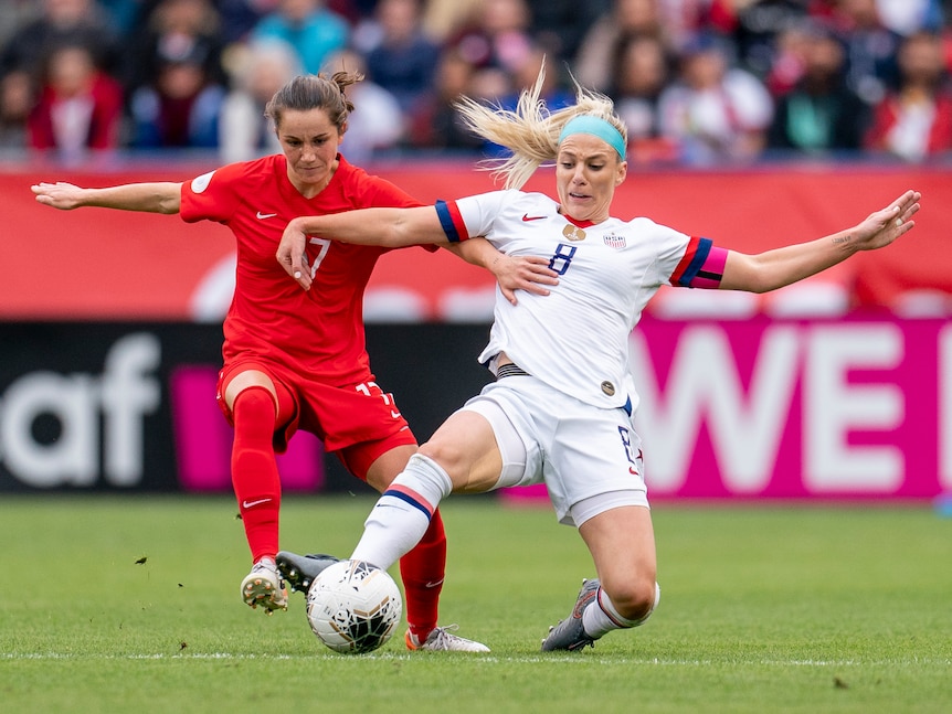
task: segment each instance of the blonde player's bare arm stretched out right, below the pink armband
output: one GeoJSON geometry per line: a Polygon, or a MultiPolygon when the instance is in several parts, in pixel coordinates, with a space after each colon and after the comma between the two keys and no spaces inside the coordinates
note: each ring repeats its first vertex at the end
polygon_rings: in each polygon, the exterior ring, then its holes
{"type": "Polygon", "coordinates": [[[858,225],[808,243],[757,255],[729,251],[720,288],[766,292],[822,273],[859,251],[885,247],[916,226],[912,216],[920,198],[918,191],[907,191],[858,225]]]}

